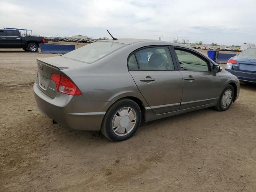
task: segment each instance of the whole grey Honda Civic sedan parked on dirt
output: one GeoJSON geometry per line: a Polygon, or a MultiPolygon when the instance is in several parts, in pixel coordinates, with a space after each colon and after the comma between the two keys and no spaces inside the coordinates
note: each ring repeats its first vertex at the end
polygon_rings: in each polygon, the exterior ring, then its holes
{"type": "Polygon", "coordinates": [[[104,40],[37,65],[39,110],[112,141],[130,138],[141,122],[208,107],[225,111],[240,89],[236,76],[197,50],[154,40],[104,40]]]}

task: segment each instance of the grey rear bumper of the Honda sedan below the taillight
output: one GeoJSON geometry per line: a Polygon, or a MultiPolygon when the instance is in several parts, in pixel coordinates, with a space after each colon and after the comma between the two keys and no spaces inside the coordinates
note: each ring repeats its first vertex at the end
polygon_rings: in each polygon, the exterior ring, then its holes
{"type": "Polygon", "coordinates": [[[38,109],[58,124],[76,130],[98,131],[113,102],[85,102],[82,96],[57,93],[54,99],[44,94],[38,85],[33,86],[38,109]]]}

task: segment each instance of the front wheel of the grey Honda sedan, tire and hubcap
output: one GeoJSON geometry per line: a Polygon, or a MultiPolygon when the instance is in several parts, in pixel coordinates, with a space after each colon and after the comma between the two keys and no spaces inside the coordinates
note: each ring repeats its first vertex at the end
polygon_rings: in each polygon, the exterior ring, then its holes
{"type": "Polygon", "coordinates": [[[220,94],[220,98],[218,100],[218,104],[215,106],[215,109],[218,111],[226,111],[232,105],[234,101],[234,87],[232,85],[228,85],[222,93],[220,94]]]}

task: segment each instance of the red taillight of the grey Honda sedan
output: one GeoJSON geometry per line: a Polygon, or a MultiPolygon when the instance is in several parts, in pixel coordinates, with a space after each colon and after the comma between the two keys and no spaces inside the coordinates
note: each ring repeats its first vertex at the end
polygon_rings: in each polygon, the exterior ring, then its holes
{"type": "Polygon", "coordinates": [[[82,95],[78,87],[68,78],[52,73],[51,80],[56,83],[58,92],[68,95],[82,95]]]}

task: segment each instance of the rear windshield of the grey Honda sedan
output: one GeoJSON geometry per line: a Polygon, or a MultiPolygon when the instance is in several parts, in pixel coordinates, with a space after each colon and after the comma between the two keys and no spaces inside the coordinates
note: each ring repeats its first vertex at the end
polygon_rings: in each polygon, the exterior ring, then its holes
{"type": "Polygon", "coordinates": [[[92,63],[123,46],[125,44],[115,42],[94,42],[64,54],[62,57],[92,63]]]}

